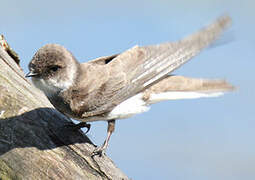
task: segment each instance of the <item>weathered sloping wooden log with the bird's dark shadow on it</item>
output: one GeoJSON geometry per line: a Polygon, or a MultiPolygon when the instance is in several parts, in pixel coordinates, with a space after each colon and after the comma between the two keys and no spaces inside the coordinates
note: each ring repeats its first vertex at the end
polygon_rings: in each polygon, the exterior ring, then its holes
{"type": "Polygon", "coordinates": [[[0,46],[0,179],[128,179],[67,123],[0,46]]]}

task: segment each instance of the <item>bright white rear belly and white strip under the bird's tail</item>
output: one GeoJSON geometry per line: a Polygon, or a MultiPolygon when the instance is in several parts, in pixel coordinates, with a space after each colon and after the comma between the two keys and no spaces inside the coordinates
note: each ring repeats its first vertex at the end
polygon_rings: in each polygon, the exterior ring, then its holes
{"type": "Polygon", "coordinates": [[[107,119],[124,119],[135,114],[146,112],[150,109],[150,104],[165,100],[178,99],[197,99],[204,97],[218,97],[223,92],[180,92],[172,91],[160,94],[151,94],[146,102],[142,99],[143,94],[139,93],[116,106],[109,114],[107,119]]]}

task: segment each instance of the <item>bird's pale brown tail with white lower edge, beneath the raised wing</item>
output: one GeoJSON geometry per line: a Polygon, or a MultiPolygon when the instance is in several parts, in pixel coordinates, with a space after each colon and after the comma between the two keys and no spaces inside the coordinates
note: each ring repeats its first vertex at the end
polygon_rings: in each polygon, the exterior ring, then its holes
{"type": "Polygon", "coordinates": [[[168,76],[144,92],[144,100],[153,104],[164,100],[218,97],[234,90],[225,80],[196,79],[183,76],[168,76]]]}

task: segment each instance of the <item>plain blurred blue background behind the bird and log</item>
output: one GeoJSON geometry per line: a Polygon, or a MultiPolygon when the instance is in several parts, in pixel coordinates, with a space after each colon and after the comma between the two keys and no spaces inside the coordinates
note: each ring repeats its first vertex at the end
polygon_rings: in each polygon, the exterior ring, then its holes
{"type": "MultiPolygon", "coordinates": [[[[253,0],[1,0],[0,34],[27,64],[46,43],[80,62],[132,46],[178,40],[222,14],[233,25],[219,43],[175,74],[223,78],[236,92],[211,99],[162,102],[117,121],[107,151],[132,179],[255,178],[255,11],[253,0]]],[[[88,136],[100,145],[107,123],[88,136]]]]}

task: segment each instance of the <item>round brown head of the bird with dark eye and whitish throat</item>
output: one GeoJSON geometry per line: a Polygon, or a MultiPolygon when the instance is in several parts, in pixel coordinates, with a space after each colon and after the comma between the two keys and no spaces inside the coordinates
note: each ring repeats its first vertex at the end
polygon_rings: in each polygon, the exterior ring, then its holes
{"type": "Polygon", "coordinates": [[[79,63],[63,46],[47,44],[35,53],[28,68],[26,77],[49,97],[73,85],[79,63]]]}

